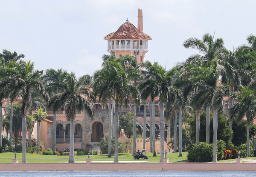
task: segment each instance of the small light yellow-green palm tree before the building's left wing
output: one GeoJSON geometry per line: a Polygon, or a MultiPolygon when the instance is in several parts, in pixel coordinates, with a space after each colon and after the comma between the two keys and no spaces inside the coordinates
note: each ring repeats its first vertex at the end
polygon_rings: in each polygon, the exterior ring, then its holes
{"type": "Polygon", "coordinates": [[[37,152],[40,151],[40,134],[41,134],[41,121],[45,121],[44,119],[47,117],[47,113],[44,112],[44,108],[39,108],[38,110],[35,110],[35,113],[33,114],[34,119],[37,121],[37,152]]]}

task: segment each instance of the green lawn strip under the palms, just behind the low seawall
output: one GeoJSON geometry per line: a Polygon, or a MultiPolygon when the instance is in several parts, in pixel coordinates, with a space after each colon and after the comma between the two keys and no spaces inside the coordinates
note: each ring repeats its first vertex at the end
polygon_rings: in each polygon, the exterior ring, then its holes
{"type": "MultiPolygon", "coordinates": [[[[129,162],[147,162],[147,163],[157,163],[160,161],[160,154],[157,154],[157,157],[152,157],[153,153],[146,153],[148,156],[148,160],[134,160],[132,153],[122,153],[118,155],[119,162],[129,161],[129,162]]],[[[187,159],[187,152],[182,152],[183,157],[178,157],[179,153],[170,153],[167,154],[167,158],[169,158],[169,162],[183,162],[187,159]]],[[[12,163],[12,159],[14,158],[14,153],[12,152],[4,152],[0,154],[0,163],[12,163]]],[[[27,163],[67,163],[68,156],[54,156],[54,155],[39,155],[39,154],[26,154],[27,163]]],[[[75,156],[75,162],[84,162],[88,156],[75,156]]],[[[93,163],[97,162],[113,162],[114,154],[112,157],[108,157],[108,154],[100,154],[100,155],[90,155],[93,163]]],[[[19,159],[19,163],[22,160],[22,153],[17,153],[17,159],[19,159]]]]}

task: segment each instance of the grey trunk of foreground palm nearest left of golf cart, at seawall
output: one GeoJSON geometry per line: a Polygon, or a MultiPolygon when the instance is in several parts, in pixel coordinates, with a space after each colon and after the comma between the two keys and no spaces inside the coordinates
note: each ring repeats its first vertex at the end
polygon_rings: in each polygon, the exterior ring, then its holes
{"type": "Polygon", "coordinates": [[[114,163],[118,163],[118,99],[119,94],[116,93],[116,108],[115,108],[115,117],[114,117],[114,127],[115,127],[115,157],[114,157],[114,163]]]}

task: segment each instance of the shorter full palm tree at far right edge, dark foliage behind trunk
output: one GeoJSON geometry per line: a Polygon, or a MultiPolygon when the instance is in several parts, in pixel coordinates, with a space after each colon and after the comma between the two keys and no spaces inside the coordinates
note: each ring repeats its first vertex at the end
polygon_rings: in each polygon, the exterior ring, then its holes
{"type": "Polygon", "coordinates": [[[250,128],[249,124],[256,116],[256,97],[254,91],[250,90],[246,86],[239,86],[239,93],[234,93],[232,97],[237,102],[230,108],[231,118],[235,118],[236,121],[241,122],[246,117],[246,130],[247,130],[247,154],[246,157],[250,157],[250,128]]]}

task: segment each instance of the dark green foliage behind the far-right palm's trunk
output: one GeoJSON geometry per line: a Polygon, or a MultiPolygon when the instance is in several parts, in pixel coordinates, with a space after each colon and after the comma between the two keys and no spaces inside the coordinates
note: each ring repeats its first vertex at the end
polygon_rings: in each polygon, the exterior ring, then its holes
{"type": "MultiPolygon", "coordinates": [[[[255,135],[256,132],[256,126],[253,123],[250,123],[250,139],[255,135]]],[[[240,146],[241,144],[244,144],[247,142],[247,133],[246,133],[246,120],[241,121],[241,123],[236,123],[233,121],[233,138],[232,143],[235,146],[240,146]]]]}

